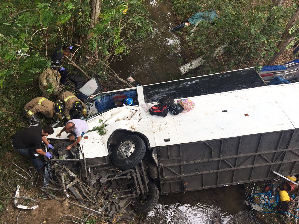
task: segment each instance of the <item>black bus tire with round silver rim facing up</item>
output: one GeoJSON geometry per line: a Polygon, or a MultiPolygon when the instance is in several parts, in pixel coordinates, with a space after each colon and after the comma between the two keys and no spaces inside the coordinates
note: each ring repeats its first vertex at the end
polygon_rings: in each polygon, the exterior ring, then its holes
{"type": "Polygon", "coordinates": [[[116,168],[131,169],[143,159],[145,150],[145,143],[139,136],[128,135],[115,145],[110,160],[116,168]]]}

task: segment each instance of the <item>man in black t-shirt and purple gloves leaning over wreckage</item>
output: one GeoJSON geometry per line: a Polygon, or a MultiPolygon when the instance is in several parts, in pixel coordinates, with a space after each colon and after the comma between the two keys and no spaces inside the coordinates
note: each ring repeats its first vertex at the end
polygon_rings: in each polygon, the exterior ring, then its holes
{"type": "Polygon", "coordinates": [[[53,145],[46,139],[46,136],[53,133],[53,128],[50,126],[45,126],[44,128],[33,126],[16,133],[13,136],[11,144],[13,145],[14,150],[30,157],[30,161],[35,166],[36,170],[40,170],[43,162],[38,158],[38,155],[45,155],[46,157],[52,158],[52,155],[49,152],[44,152],[42,150],[42,141],[45,142],[48,149],[53,149],[53,145]]]}

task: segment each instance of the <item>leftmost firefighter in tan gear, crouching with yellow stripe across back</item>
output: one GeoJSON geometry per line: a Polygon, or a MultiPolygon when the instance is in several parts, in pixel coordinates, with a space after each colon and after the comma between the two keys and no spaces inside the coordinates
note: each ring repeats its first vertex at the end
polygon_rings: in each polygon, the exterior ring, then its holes
{"type": "Polygon", "coordinates": [[[33,122],[38,122],[34,117],[34,114],[37,112],[42,113],[47,118],[52,118],[55,115],[63,113],[64,107],[58,103],[54,103],[45,97],[39,96],[32,99],[24,107],[24,110],[27,112],[26,117],[33,122]]]}

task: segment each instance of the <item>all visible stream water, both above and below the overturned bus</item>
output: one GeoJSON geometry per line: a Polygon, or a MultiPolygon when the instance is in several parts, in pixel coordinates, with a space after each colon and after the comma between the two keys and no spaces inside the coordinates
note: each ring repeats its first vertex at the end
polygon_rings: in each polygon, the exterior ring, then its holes
{"type": "MultiPolygon", "coordinates": [[[[126,79],[132,76],[142,85],[186,78],[179,71],[184,52],[180,40],[170,28],[176,24],[168,0],[148,2],[154,32],[146,42],[134,45],[123,61],[110,66],[126,79]],[[179,50],[173,50],[173,48],[179,50]]],[[[186,193],[160,195],[158,205],[147,214],[153,224],[251,224],[251,211],[244,205],[243,185],[205,189],[186,193]]]]}

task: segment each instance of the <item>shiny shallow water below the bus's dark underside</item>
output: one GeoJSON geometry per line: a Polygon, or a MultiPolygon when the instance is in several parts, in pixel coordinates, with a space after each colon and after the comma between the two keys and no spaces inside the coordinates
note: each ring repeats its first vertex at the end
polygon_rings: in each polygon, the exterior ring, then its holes
{"type": "Polygon", "coordinates": [[[151,224],[254,224],[243,185],[160,195],[146,217],[151,224]]]}

